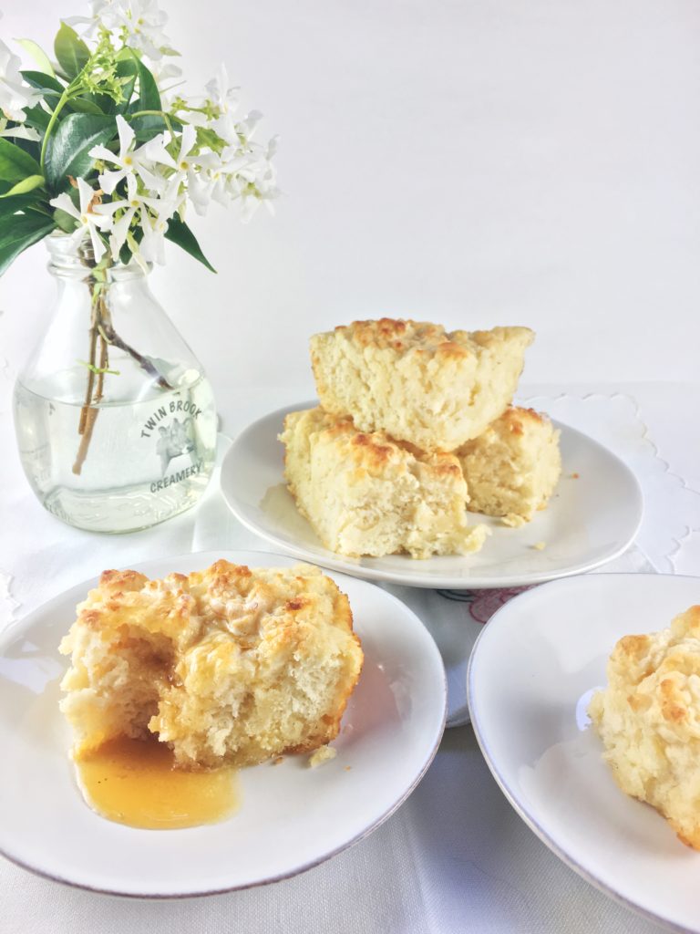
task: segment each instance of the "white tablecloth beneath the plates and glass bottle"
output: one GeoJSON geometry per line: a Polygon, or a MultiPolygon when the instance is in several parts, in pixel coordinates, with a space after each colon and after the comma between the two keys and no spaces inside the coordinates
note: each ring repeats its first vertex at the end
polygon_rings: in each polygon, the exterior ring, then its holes
{"type": "MultiPolygon", "coordinates": [[[[583,399],[589,389],[577,390],[576,396],[583,399]]],[[[649,561],[656,570],[687,573],[698,557],[700,538],[693,533],[700,526],[700,498],[688,489],[700,488],[700,459],[697,441],[687,438],[700,387],[642,384],[619,387],[617,392],[597,389],[605,398],[618,398],[609,404],[627,413],[618,419],[623,430],[611,446],[631,462],[640,459],[637,473],[645,473],[653,502],[665,503],[663,515],[656,506],[648,510],[642,547],[631,559],[649,561]],[[660,459],[650,437],[657,439],[660,459]],[[682,472],[682,479],[674,471],[682,472]]],[[[559,390],[539,388],[537,394],[555,400],[559,390]]],[[[574,395],[570,389],[569,395],[574,395]]],[[[224,406],[224,429],[234,433],[290,398],[295,395],[289,389],[270,389],[255,400],[224,406]]],[[[590,402],[569,404],[569,415],[577,405],[579,417],[590,411],[590,402]]],[[[157,554],[217,547],[266,548],[222,512],[216,488],[196,512],[136,535],[107,538],[68,529],[44,513],[26,488],[13,453],[7,392],[0,397],[0,439],[8,452],[0,494],[0,573],[7,585],[7,595],[0,587],[0,613],[6,619],[99,573],[105,564],[124,566],[157,554]]],[[[424,594],[420,599],[437,598],[424,594]]],[[[467,618],[463,606],[459,612],[467,618]]],[[[466,634],[467,627],[465,638],[466,634]]],[[[122,934],[126,929],[133,934],[171,929],[268,934],[283,927],[292,934],[445,934],[468,929],[498,934],[646,934],[660,929],[595,891],[539,842],[498,790],[469,726],[447,731],[424,781],[385,825],[295,879],[228,896],[156,903],[66,888],[0,860],[0,919],[4,934],[122,934]]]]}

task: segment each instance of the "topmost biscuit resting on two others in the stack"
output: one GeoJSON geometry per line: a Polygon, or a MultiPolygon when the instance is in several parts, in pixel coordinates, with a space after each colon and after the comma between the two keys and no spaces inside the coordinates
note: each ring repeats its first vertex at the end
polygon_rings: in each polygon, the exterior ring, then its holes
{"type": "Polygon", "coordinates": [[[358,431],[382,431],[425,451],[477,437],[511,402],[529,328],[445,332],[382,318],[311,338],[321,405],[358,431]]]}

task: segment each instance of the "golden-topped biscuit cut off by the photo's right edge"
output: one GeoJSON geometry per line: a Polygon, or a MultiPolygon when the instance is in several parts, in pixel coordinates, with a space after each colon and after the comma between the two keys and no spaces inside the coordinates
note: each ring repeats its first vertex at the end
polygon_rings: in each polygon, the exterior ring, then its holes
{"type": "Polygon", "coordinates": [[[670,629],[624,636],[608,682],[588,713],[615,780],[700,849],[700,606],[670,629]]]}

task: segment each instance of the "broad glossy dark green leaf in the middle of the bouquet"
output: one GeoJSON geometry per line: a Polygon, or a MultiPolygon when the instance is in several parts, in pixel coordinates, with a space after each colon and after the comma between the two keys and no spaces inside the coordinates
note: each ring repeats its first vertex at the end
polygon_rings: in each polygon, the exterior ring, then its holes
{"type": "Polygon", "coordinates": [[[74,178],[85,176],[93,160],[93,146],[109,142],[117,135],[113,117],[96,114],[69,114],[49,136],[44,158],[44,174],[51,193],[61,191],[74,178]]]}

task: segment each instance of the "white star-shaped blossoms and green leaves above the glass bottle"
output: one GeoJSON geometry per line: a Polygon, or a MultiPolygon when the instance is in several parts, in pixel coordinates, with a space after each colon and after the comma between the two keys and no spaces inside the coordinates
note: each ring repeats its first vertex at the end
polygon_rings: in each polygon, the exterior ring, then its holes
{"type": "Polygon", "coordinates": [[[274,141],[253,141],[260,114],[237,116],[223,66],[201,97],[176,92],[157,0],[91,0],[91,14],[63,21],[56,62],[20,40],[32,70],[0,40],[0,274],[56,229],[89,236],[98,267],[163,262],[168,239],[211,269],[189,205],[272,208],[274,141]]]}

